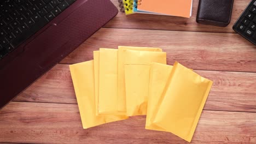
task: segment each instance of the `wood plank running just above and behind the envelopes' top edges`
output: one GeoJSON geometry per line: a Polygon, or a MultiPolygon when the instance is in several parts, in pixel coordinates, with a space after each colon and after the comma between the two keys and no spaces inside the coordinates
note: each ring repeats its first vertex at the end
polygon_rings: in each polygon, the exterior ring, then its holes
{"type": "Polygon", "coordinates": [[[168,64],[178,61],[192,69],[256,72],[255,46],[232,33],[102,28],[61,63],[89,61],[92,51],[119,45],[160,47],[168,64]]]}

